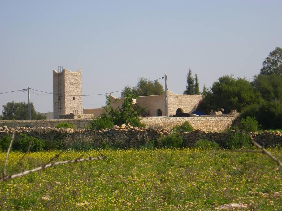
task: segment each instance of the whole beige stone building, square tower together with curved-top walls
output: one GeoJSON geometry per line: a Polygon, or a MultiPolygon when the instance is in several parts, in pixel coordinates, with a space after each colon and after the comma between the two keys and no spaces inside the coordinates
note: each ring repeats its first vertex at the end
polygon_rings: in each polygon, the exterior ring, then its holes
{"type": "MultiPolygon", "coordinates": [[[[104,108],[82,108],[81,70],[71,72],[63,69],[53,70],[53,107],[54,119],[90,118],[100,116],[104,108]]],[[[112,107],[121,107],[125,98],[109,95],[112,107]]],[[[145,107],[146,116],[165,116],[167,98],[167,115],[196,111],[202,95],[177,95],[167,90],[161,95],[140,96],[133,103],[145,107]]]]}

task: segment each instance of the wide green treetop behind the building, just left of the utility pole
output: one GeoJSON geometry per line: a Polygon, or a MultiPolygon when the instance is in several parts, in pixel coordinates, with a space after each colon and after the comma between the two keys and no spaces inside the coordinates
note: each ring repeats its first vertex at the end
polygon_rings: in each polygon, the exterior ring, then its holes
{"type": "Polygon", "coordinates": [[[139,78],[135,88],[132,89],[128,86],[124,88],[123,96],[136,98],[138,96],[161,95],[163,92],[163,86],[158,81],[153,83],[150,82],[150,79],[139,78]]]}

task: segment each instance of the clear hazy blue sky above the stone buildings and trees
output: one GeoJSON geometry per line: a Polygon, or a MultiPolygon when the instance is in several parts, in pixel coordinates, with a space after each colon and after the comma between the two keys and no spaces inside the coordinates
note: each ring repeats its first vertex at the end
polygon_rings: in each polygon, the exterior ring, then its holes
{"type": "MultiPolygon", "coordinates": [[[[281,8],[282,1],[0,0],[0,93],[52,92],[59,65],[82,70],[83,95],[163,74],[182,94],[189,68],[201,91],[223,75],[252,80],[282,47],[281,8]]],[[[37,112],[53,112],[51,94],[30,97],[37,112]]],[[[28,102],[28,94],[1,94],[0,111],[9,101],[28,102]]],[[[83,97],[84,108],[104,103],[104,95],[83,97]]]]}

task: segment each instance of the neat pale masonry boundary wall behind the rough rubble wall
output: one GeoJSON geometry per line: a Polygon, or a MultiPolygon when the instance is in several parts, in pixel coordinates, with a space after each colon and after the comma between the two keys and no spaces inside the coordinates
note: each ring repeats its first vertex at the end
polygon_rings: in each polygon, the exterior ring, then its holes
{"type": "MultiPolygon", "coordinates": [[[[228,129],[233,121],[237,118],[236,115],[216,116],[211,117],[141,117],[141,122],[147,127],[155,128],[173,128],[176,125],[188,121],[194,129],[204,131],[224,131],[228,129]]],[[[61,122],[67,122],[76,125],[77,129],[83,129],[89,124],[92,119],[54,119],[54,120],[0,120],[0,127],[51,127],[61,122]]]]}

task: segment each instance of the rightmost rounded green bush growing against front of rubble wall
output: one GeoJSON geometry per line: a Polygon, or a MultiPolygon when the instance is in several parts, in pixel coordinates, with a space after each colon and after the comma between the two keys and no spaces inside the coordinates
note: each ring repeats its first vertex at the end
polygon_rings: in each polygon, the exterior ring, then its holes
{"type": "Polygon", "coordinates": [[[228,149],[249,148],[251,147],[251,141],[247,134],[236,132],[230,135],[225,146],[228,149]]]}

